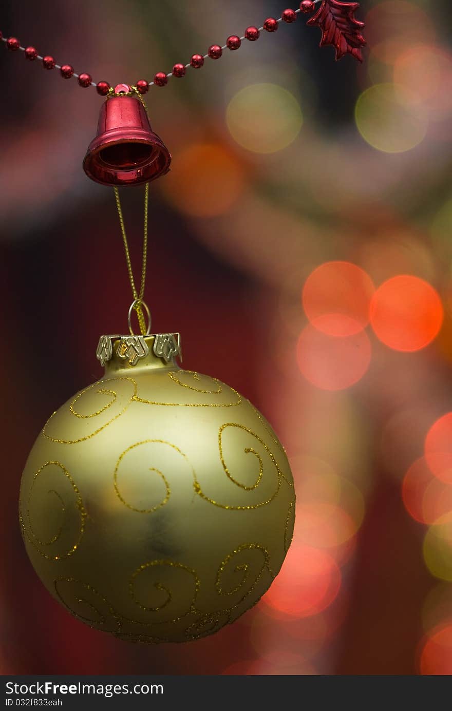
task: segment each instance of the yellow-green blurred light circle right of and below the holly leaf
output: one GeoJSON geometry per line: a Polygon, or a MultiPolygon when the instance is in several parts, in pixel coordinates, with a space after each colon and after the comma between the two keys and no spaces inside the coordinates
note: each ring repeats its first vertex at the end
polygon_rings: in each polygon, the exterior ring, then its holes
{"type": "Polygon", "coordinates": [[[396,84],[376,84],[362,92],[354,109],[364,141],[384,153],[403,153],[425,138],[428,119],[410,92],[396,84]]]}

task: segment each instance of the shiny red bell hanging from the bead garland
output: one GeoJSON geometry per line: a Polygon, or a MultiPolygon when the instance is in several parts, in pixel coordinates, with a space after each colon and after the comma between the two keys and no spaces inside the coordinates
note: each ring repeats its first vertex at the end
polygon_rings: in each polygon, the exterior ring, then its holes
{"type": "Polygon", "coordinates": [[[98,132],[83,160],[88,178],[109,186],[138,185],[167,173],[170,163],[144,105],[132,87],[118,84],[100,107],[98,132]]]}

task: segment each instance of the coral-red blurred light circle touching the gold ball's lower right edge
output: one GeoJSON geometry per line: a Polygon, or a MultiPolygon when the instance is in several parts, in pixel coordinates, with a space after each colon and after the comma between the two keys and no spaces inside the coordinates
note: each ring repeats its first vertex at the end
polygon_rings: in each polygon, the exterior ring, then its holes
{"type": "Polygon", "coordinates": [[[341,581],[339,567],[331,555],[294,541],[262,601],[288,616],[315,615],[332,603],[341,581]]]}

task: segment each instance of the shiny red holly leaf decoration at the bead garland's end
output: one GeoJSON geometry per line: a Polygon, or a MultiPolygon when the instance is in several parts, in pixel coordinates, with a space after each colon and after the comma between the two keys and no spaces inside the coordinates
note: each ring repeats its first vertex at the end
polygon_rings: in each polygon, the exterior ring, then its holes
{"type": "Polygon", "coordinates": [[[311,27],[320,27],[322,30],[320,47],[332,45],[336,48],[336,61],[348,53],[362,62],[361,48],[366,41],[361,34],[364,22],[353,17],[357,8],[357,2],[322,0],[320,8],[307,22],[311,27]]]}

